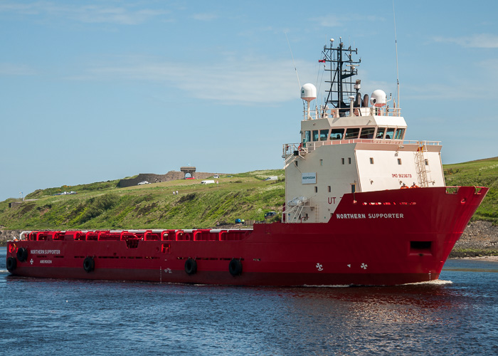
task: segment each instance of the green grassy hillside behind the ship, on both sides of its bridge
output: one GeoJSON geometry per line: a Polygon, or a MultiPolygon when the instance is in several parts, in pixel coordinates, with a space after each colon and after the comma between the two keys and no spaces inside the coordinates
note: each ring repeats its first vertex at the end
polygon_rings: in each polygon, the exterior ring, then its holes
{"type": "MultiPolygon", "coordinates": [[[[473,219],[498,225],[498,157],[444,170],[448,186],[490,188],[473,219]]],[[[9,202],[18,199],[0,202],[0,229],[186,229],[261,221],[266,211],[281,212],[285,200],[285,182],[264,181],[268,176],[283,177],[283,170],[233,174],[208,185],[196,179],[117,188],[116,180],[37,190],[16,208],[9,202]],[[70,191],[78,194],[53,195],[70,191]]]]}

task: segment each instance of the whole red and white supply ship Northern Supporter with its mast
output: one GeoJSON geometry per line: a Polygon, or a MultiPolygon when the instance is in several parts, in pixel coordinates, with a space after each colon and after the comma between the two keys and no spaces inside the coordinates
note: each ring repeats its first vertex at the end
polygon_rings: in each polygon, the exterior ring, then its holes
{"type": "MultiPolygon", "coordinates": [[[[325,46],[324,105],[312,84],[300,142],[285,144],[282,222],[253,229],[24,231],[14,276],[244,286],[393,285],[438,279],[487,193],[445,187],[440,142],[406,141],[393,100],[361,98],[356,49],[325,46]],[[410,188],[408,188],[410,187],[410,188]],[[407,188],[407,189],[404,189],[407,188]]],[[[399,100],[398,100],[399,102],[399,100]]]]}

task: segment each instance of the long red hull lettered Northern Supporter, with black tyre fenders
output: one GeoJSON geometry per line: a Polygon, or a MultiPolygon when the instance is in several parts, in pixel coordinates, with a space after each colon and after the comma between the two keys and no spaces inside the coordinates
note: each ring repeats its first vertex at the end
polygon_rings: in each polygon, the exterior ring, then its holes
{"type": "Polygon", "coordinates": [[[252,231],[38,232],[9,241],[7,266],[14,276],[244,286],[430,281],[486,193],[345,194],[327,224],[256,224],[252,231]]]}

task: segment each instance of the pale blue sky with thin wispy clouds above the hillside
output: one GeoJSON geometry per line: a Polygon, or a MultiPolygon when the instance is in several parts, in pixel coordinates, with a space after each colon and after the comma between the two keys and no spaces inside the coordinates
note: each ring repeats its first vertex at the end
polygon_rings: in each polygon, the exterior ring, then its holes
{"type": "MultiPolygon", "coordinates": [[[[498,1],[394,8],[406,139],[442,141],[443,163],[498,156],[498,1]]],[[[393,22],[392,0],[0,1],[0,200],[188,164],[281,168],[295,66],[317,84],[341,36],[362,93],[395,95],[393,22]]]]}

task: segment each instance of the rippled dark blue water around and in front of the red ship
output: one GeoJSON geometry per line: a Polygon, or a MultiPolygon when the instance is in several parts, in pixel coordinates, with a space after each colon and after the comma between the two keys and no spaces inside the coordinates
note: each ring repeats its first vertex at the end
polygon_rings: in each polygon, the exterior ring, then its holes
{"type": "Polygon", "coordinates": [[[497,262],[410,286],[246,288],[14,278],[5,256],[3,354],[498,354],[497,262]]]}

